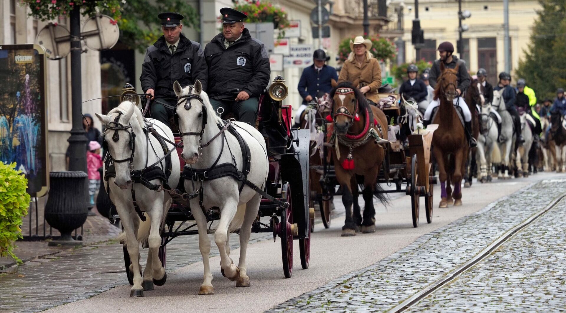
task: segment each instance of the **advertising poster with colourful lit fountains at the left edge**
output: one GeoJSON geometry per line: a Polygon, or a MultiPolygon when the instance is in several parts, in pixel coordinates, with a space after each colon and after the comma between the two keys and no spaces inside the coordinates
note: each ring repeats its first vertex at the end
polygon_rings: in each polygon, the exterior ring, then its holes
{"type": "Polygon", "coordinates": [[[49,186],[45,60],[39,45],[0,46],[0,162],[16,162],[32,196],[49,186]]]}

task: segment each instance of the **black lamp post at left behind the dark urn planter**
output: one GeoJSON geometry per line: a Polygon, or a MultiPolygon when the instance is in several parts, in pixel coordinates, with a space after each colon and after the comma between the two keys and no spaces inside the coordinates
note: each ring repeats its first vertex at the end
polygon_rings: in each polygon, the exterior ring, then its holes
{"type": "Polygon", "coordinates": [[[80,66],[80,6],[71,11],[71,100],[72,128],[69,142],[69,170],[87,172],[87,136],[84,135],[80,66]]]}

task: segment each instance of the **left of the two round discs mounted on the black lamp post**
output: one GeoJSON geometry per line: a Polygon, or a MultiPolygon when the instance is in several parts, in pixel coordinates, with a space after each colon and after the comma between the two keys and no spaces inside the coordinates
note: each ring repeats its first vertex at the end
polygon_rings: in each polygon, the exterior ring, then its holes
{"type": "Polygon", "coordinates": [[[70,39],[71,33],[67,28],[49,23],[37,34],[36,42],[45,48],[49,59],[58,60],[71,52],[70,39]]]}

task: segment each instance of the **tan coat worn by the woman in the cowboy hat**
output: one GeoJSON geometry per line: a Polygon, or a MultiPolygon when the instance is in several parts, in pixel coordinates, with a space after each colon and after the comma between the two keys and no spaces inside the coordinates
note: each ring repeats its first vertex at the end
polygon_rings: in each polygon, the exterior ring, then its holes
{"type": "Polygon", "coordinates": [[[342,82],[357,83],[358,88],[369,86],[371,89],[366,93],[366,99],[378,103],[378,88],[381,87],[381,66],[378,59],[366,59],[362,66],[355,59],[354,62],[346,60],[338,76],[338,83],[342,82]]]}

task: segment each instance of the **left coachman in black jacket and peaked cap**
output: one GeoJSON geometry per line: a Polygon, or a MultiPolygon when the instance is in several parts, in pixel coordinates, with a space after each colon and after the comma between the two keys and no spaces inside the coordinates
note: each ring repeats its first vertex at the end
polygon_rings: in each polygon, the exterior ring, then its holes
{"type": "Polygon", "coordinates": [[[183,15],[164,12],[157,17],[161,19],[163,36],[147,48],[140,82],[141,89],[151,95],[146,97],[155,99],[151,104],[151,117],[169,125],[169,117],[177,104],[173,82],[177,80],[185,87],[198,79],[206,90],[208,68],[200,44],[181,33],[183,15]]]}

